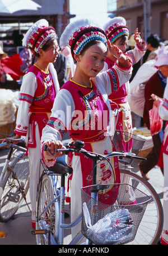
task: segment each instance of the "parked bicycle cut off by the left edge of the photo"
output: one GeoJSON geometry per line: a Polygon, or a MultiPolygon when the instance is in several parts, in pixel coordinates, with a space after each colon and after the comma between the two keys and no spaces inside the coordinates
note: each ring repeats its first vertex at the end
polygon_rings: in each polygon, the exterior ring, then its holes
{"type": "MultiPolygon", "coordinates": [[[[26,194],[29,190],[29,159],[23,139],[5,138],[1,147],[8,147],[8,155],[0,176],[0,222],[7,222],[17,212],[23,200],[27,207],[26,194]],[[11,141],[19,141],[14,145],[11,141]]],[[[29,208],[30,210],[30,208],[29,208]]],[[[31,210],[30,210],[31,212],[31,210]]]]}

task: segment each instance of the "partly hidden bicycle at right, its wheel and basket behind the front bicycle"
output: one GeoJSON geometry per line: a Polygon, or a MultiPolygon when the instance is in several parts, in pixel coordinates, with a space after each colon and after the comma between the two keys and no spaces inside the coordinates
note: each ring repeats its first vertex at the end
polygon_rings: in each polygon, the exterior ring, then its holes
{"type": "MultiPolygon", "coordinates": [[[[134,134],[116,130],[113,136],[113,144],[116,151],[122,150],[121,144],[118,143],[121,140],[121,136],[124,136],[125,141],[133,140],[131,151],[138,155],[144,145],[144,140],[134,134]]],[[[150,182],[133,172],[133,167],[130,166],[133,159],[123,158],[118,160],[119,163],[122,164],[119,166],[121,182],[129,183],[151,197],[147,205],[146,213],[139,225],[137,237],[131,244],[137,245],[139,243],[139,237],[143,237],[143,244],[157,244],[161,236],[164,222],[164,213],[160,197],[150,182]],[[148,216],[150,216],[150,221],[148,221],[148,216]]]]}

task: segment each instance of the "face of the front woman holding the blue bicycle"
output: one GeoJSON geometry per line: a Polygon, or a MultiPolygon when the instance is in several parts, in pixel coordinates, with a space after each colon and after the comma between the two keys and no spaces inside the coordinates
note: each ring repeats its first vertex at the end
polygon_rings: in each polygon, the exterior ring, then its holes
{"type": "Polygon", "coordinates": [[[107,53],[108,51],[104,43],[96,43],[82,54],[75,56],[77,68],[87,77],[94,78],[104,68],[107,53]]]}

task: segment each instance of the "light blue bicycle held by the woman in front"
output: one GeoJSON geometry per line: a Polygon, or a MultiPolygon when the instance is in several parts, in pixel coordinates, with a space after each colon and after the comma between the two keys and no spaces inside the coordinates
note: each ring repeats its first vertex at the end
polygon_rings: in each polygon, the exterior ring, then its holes
{"type": "MultiPolygon", "coordinates": [[[[93,160],[93,184],[95,184],[96,181],[96,161],[97,160],[102,160],[102,159],[107,159],[110,157],[118,156],[120,158],[129,158],[129,159],[139,159],[139,160],[144,160],[144,158],[139,158],[136,156],[136,154],[132,152],[111,152],[108,155],[102,156],[102,155],[97,155],[92,152],[87,152],[82,149],[82,142],[79,141],[74,141],[73,145],[69,145],[66,147],[66,149],[60,149],[57,151],[63,151],[65,154],[68,154],[68,152],[80,152],[82,154],[85,154],[87,157],[91,158],[93,160]]],[[[36,230],[32,231],[32,234],[36,235],[36,242],[37,244],[63,244],[63,237],[64,237],[64,232],[63,230],[66,228],[72,228],[75,226],[77,223],[83,222],[84,217],[83,216],[83,210],[82,213],[78,216],[78,218],[68,224],[64,224],[64,192],[65,192],[65,187],[64,187],[64,182],[65,182],[65,176],[68,173],[72,172],[72,168],[68,167],[67,165],[63,163],[56,163],[53,168],[46,168],[45,165],[43,164],[43,161],[41,161],[44,172],[40,177],[40,182],[39,182],[39,187],[38,187],[38,196],[37,196],[37,215],[36,215],[36,230]],[[57,175],[61,176],[61,184],[60,187],[58,185],[58,180],[56,178],[57,175]]],[[[140,179],[141,180],[141,179],[140,179]]],[[[142,181],[143,183],[143,181],[142,181]]],[[[95,185],[93,185],[95,186],[95,185]]],[[[109,185],[108,185],[109,186],[109,185]]],[[[134,195],[137,194],[137,188],[134,188],[133,186],[130,186],[128,184],[119,184],[119,185],[110,185],[110,186],[116,186],[116,189],[119,191],[119,186],[129,186],[128,188],[131,188],[133,190],[134,195]]],[[[100,191],[106,190],[106,185],[103,185],[103,187],[99,186],[98,187],[100,191]]],[[[85,190],[86,188],[81,188],[81,190],[85,190]]],[[[88,187],[87,187],[88,189],[88,187]]],[[[96,188],[97,189],[97,188],[96,188]]],[[[125,191],[126,188],[123,189],[125,191]]],[[[114,190],[115,191],[115,190],[114,190]]],[[[122,191],[122,190],[120,190],[122,191]]],[[[85,191],[82,191],[85,194],[85,191]]],[[[141,191],[140,191],[141,192],[141,191]]],[[[97,191],[94,192],[94,198],[96,198],[97,191]]],[[[105,194],[105,193],[104,193],[105,194]]],[[[140,193],[141,194],[141,193],[140,193]]],[[[122,197],[124,196],[124,193],[122,194],[122,197]]],[[[141,214],[147,206],[147,203],[149,200],[151,200],[151,197],[147,196],[142,192],[141,196],[139,198],[143,198],[143,201],[139,201],[136,205],[117,205],[114,203],[111,205],[111,207],[117,209],[120,207],[130,209],[132,212],[135,212],[136,214],[141,214]],[[144,207],[144,210],[142,211],[142,205],[144,207]],[[140,210],[139,210],[140,209],[140,210]]],[[[96,200],[97,202],[97,200],[96,200]]],[[[96,203],[97,204],[97,203],[96,203]]],[[[109,209],[109,207],[108,207],[109,209]]],[[[101,211],[101,213],[107,213],[105,209],[101,211]]],[[[142,214],[142,215],[143,215],[142,214]]],[[[90,214],[91,215],[91,214],[90,214]]],[[[102,214],[101,218],[103,217],[102,214]]],[[[142,219],[142,215],[138,216],[136,219],[134,219],[134,222],[137,222],[137,219],[140,220],[142,219]]],[[[97,220],[97,215],[96,215],[96,220],[97,220]]],[[[136,226],[136,225],[135,225],[136,226]]],[[[137,228],[139,226],[139,223],[137,224],[137,228]]],[[[86,224],[84,225],[84,230],[80,231],[69,243],[69,245],[74,245],[78,244],[82,237],[83,233],[85,233],[85,228],[86,224]]],[[[157,227],[158,229],[161,227],[157,227]]],[[[134,232],[134,236],[132,239],[129,241],[134,240],[134,237],[136,236],[136,232],[134,232]]],[[[156,232],[155,241],[160,238],[158,236],[158,232],[156,232]]],[[[87,236],[86,236],[87,237],[87,236]]],[[[90,241],[92,239],[87,237],[86,244],[90,244],[90,241]]],[[[126,241],[128,242],[128,241],[126,241]]],[[[115,243],[114,243],[115,244],[115,243]]],[[[125,244],[125,241],[122,242],[116,242],[116,244],[125,244]]],[[[148,244],[153,244],[152,241],[148,241],[148,244]]]]}

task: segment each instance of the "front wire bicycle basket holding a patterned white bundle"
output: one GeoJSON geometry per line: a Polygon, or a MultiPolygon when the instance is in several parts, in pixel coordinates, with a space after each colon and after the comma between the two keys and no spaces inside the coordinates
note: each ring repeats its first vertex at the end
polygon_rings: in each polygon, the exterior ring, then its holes
{"type": "Polygon", "coordinates": [[[134,240],[151,199],[142,191],[125,183],[82,187],[81,197],[81,231],[87,239],[97,245],[126,244],[134,240]],[[114,192],[118,196],[113,200],[114,192]],[[129,201],[128,194],[131,195],[129,201]]]}

